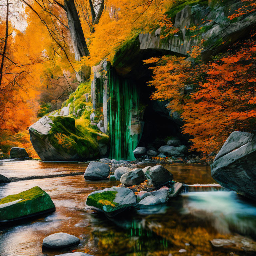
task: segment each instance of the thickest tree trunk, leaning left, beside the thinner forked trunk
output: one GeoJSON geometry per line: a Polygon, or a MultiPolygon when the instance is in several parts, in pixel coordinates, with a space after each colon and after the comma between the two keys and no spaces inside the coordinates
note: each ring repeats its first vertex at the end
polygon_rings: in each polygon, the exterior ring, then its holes
{"type": "Polygon", "coordinates": [[[70,29],[73,49],[75,52],[75,59],[80,61],[81,57],[89,55],[83,29],[79,20],[74,0],[64,0],[64,6],[67,13],[68,26],[70,29]]]}

